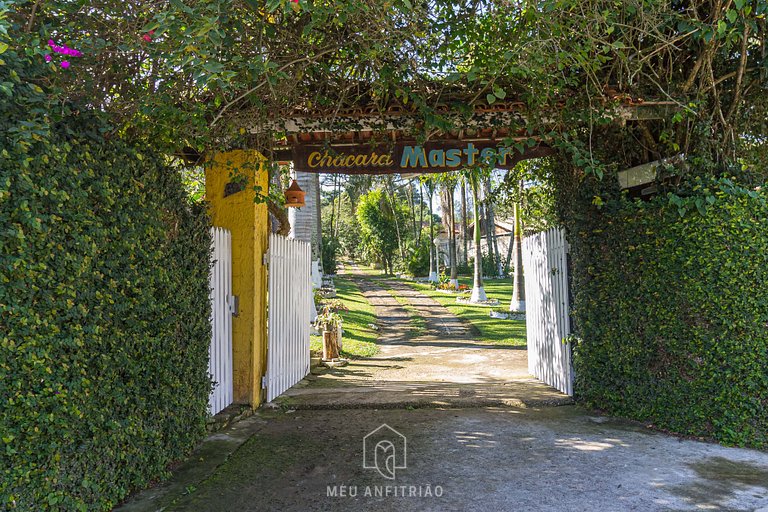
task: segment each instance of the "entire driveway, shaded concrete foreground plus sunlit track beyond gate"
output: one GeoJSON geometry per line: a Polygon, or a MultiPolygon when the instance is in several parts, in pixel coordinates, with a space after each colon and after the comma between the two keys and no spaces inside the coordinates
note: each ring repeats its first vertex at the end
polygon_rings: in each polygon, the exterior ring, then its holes
{"type": "Polygon", "coordinates": [[[377,357],[305,380],[120,510],[768,512],[768,453],[565,405],[527,375],[524,350],[474,341],[445,308],[397,289],[429,325],[409,336],[394,297],[362,287],[377,357]]]}

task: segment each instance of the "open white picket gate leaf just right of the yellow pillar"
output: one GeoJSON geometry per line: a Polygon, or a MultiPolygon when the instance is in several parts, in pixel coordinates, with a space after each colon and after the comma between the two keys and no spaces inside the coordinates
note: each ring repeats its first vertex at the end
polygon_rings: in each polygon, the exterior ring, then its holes
{"type": "Polygon", "coordinates": [[[271,402],[309,373],[312,303],[311,246],[269,235],[267,401],[271,402]]]}

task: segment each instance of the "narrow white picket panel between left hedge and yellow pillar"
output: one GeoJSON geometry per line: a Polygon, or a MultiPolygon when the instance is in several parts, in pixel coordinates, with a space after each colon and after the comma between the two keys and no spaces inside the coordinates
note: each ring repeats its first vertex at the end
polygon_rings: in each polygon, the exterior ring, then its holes
{"type": "Polygon", "coordinates": [[[211,345],[208,373],[214,382],[208,410],[216,414],[232,403],[232,234],[211,228],[213,267],[211,268],[211,345]]]}

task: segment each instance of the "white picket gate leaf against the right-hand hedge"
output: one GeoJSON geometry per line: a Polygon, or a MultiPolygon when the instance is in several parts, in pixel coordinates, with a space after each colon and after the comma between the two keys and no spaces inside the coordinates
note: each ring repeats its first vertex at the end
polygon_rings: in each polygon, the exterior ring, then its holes
{"type": "Polygon", "coordinates": [[[523,240],[528,371],[573,395],[568,300],[568,242],[562,229],[523,240]]]}

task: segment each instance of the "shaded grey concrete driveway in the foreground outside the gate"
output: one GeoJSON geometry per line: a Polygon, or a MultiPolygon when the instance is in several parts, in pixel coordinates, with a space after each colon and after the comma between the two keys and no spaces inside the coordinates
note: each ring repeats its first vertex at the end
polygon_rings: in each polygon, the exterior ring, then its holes
{"type": "Polygon", "coordinates": [[[262,412],[239,428],[248,440],[202,482],[126,510],[768,510],[768,454],[577,406],[262,412]],[[382,424],[406,439],[394,480],[363,467],[382,424]]]}

